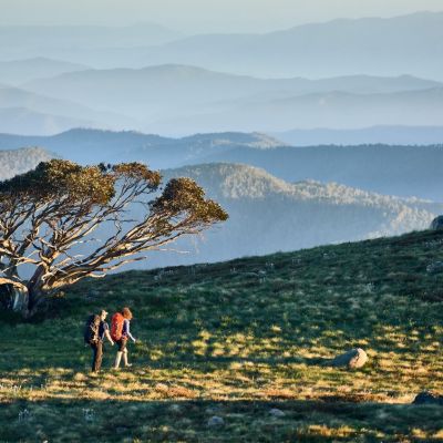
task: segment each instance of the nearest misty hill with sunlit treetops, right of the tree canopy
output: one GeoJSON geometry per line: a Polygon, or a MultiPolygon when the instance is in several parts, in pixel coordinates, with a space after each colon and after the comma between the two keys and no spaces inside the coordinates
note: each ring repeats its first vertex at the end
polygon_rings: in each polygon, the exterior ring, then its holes
{"type": "Polygon", "coordinates": [[[219,202],[229,220],[176,247],[189,255],[158,254],[150,266],[218,261],[331,243],[390,236],[429,227],[443,205],[400,199],[338,184],[278,179],[246,165],[207,164],[164,171],[188,176],[219,202]]]}

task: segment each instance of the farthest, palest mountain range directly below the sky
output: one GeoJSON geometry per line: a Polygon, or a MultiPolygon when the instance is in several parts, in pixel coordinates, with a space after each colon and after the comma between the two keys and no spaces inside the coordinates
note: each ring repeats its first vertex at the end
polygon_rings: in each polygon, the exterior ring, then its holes
{"type": "Polygon", "coordinates": [[[341,19],[257,34],[179,35],[141,23],[105,27],[2,27],[0,59],[60,59],[93,68],[164,63],[258,76],[360,74],[443,80],[443,13],[341,19]]]}

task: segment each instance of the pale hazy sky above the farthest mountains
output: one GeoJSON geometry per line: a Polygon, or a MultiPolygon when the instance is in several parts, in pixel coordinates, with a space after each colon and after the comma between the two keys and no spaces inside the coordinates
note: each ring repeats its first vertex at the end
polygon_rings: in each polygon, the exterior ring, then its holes
{"type": "Polygon", "coordinates": [[[443,11],[443,0],[0,0],[0,24],[132,24],[266,32],[334,18],[443,11]]]}

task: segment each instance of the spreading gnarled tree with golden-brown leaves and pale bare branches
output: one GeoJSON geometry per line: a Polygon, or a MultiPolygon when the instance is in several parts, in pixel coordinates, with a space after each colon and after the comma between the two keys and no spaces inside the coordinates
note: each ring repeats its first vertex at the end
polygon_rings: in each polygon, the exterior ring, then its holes
{"type": "Polygon", "coordinates": [[[32,315],[64,286],[102,277],[228,218],[193,179],[171,179],[164,189],[161,183],[158,172],[140,163],[81,166],[63,159],[0,182],[2,305],[32,315]],[[142,208],[136,217],[135,206],[142,208]],[[94,238],[101,226],[106,238],[94,238]]]}

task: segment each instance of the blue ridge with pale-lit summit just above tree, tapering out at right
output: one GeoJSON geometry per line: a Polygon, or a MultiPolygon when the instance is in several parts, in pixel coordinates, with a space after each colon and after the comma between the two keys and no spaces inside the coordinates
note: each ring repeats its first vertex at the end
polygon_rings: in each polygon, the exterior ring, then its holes
{"type": "Polygon", "coordinates": [[[142,161],[155,168],[202,163],[202,159],[234,148],[267,150],[281,146],[278,140],[259,133],[196,134],[168,138],[137,132],[71,130],[53,136],[0,134],[0,150],[44,146],[79,163],[142,161]]]}

